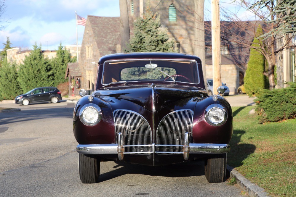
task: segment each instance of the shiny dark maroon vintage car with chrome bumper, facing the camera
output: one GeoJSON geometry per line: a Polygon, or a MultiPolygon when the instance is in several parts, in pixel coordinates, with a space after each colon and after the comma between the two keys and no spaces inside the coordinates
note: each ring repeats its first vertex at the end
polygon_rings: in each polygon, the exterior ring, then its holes
{"type": "Polygon", "coordinates": [[[219,94],[208,95],[197,56],[103,56],[95,91],[79,94],[73,132],[82,183],[99,181],[103,161],[159,166],[195,159],[204,160],[208,182],[223,182],[232,110],[219,94]]]}

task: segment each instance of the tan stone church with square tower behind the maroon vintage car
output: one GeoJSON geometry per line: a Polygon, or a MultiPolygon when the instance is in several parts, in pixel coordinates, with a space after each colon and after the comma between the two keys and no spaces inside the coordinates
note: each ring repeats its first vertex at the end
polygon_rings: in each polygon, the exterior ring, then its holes
{"type": "MultiPolygon", "coordinates": [[[[130,18],[130,36],[133,36],[133,21],[143,17],[147,1],[128,0],[130,18]]],[[[175,42],[175,49],[180,53],[196,54],[194,51],[194,0],[150,0],[153,13],[157,12],[162,28],[167,28],[168,35],[175,42]]],[[[83,88],[93,91],[98,65],[101,56],[120,52],[120,17],[87,16],[79,63],[69,63],[65,77],[69,82],[79,80],[80,85],[74,86],[74,93],[83,88]]],[[[210,32],[205,32],[206,40],[206,77],[212,78],[212,55],[210,32]]],[[[221,42],[221,45],[223,42],[221,42]]],[[[222,82],[230,88],[230,94],[235,94],[237,87],[242,85],[244,69],[234,63],[229,45],[221,46],[221,76],[222,82]]],[[[69,92],[69,94],[71,94],[69,92]]]]}

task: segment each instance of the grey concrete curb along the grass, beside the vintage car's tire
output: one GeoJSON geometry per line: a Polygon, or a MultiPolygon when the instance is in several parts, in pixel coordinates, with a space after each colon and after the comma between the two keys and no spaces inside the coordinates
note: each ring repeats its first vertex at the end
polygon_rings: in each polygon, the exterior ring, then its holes
{"type": "Polygon", "coordinates": [[[263,188],[259,187],[255,183],[251,183],[251,181],[246,179],[237,170],[233,169],[233,167],[227,165],[226,172],[230,178],[234,177],[236,179],[237,185],[245,192],[248,192],[249,196],[251,196],[251,197],[266,197],[266,196],[268,196],[268,193],[266,193],[263,188]]]}

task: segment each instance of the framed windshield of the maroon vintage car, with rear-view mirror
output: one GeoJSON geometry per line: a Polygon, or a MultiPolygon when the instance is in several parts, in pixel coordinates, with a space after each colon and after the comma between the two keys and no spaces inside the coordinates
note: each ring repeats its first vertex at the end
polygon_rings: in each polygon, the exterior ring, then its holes
{"type": "Polygon", "coordinates": [[[196,61],[137,59],[117,60],[104,63],[102,84],[119,81],[173,81],[199,83],[196,61]]]}

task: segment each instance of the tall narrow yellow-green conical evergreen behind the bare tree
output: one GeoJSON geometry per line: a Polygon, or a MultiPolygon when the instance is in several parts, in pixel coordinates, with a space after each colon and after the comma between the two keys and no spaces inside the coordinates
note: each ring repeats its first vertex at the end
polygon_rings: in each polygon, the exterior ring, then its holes
{"type": "Polygon", "coordinates": [[[266,61],[263,54],[260,52],[260,40],[257,38],[263,35],[263,30],[259,25],[252,48],[250,49],[250,57],[246,75],[244,77],[244,87],[249,96],[255,95],[260,89],[268,88],[268,79],[263,72],[266,70],[266,61]]]}

